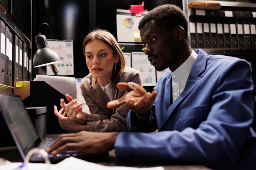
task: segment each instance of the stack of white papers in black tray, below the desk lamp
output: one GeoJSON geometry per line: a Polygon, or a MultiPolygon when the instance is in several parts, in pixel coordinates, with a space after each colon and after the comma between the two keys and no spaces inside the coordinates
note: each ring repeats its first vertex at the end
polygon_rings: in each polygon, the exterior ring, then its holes
{"type": "Polygon", "coordinates": [[[36,75],[34,81],[45,81],[63,95],[69,94],[73,99],[76,99],[77,79],[74,77],[36,75]]]}

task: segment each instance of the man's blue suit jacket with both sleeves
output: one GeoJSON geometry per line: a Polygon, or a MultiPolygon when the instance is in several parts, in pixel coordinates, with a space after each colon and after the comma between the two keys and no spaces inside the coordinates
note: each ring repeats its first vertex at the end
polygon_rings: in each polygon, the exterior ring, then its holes
{"type": "Polygon", "coordinates": [[[195,52],[198,57],[186,87],[173,104],[169,71],[157,81],[151,115],[141,120],[128,113],[128,130],[135,132],[119,133],[117,161],[190,163],[217,170],[253,168],[256,135],[250,128],[249,64],[236,57],[195,52]],[[152,133],[156,129],[159,132],[152,133]]]}

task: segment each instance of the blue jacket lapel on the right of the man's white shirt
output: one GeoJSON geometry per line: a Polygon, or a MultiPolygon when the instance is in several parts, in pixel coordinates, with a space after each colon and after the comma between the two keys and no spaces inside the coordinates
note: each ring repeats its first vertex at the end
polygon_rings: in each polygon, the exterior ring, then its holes
{"type": "MultiPolygon", "coordinates": [[[[195,50],[196,53],[198,53],[198,57],[195,60],[195,63],[193,64],[193,67],[191,69],[191,72],[189,74],[188,80],[186,82],[186,86],[184,91],[180,94],[180,96],[171,104],[171,106],[168,108],[166,114],[162,115],[162,122],[160,122],[160,128],[164,125],[168,117],[173,113],[173,110],[184,100],[184,98],[189,95],[189,93],[195,88],[195,86],[200,82],[201,78],[198,77],[200,73],[202,73],[205,70],[206,62],[207,62],[207,53],[202,51],[201,49],[195,50]]],[[[169,83],[169,82],[168,82],[169,83]]],[[[171,83],[170,83],[171,85],[171,83]]],[[[169,88],[169,87],[168,87],[169,88]]],[[[166,89],[168,91],[168,89],[166,89]]],[[[166,101],[166,100],[165,100],[166,101]]],[[[170,100],[168,100],[170,101],[170,100]]]]}

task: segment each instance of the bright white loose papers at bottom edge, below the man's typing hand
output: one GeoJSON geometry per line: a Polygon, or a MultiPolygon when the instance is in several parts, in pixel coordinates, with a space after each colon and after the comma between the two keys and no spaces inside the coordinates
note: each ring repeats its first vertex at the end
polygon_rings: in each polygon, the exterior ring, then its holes
{"type": "Polygon", "coordinates": [[[69,157],[57,163],[50,170],[164,170],[163,167],[134,168],[126,166],[103,166],[97,163],[83,161],[74,157],[69,157]]]}

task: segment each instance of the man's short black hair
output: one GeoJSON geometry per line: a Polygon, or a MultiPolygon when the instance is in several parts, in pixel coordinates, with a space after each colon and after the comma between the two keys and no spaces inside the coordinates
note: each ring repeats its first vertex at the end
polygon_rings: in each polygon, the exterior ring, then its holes
{"type": "Polygon", "coordinates": [[[138,28],[141,29],[150,20],[155,20],[157,23],[165,24],[166,29],[170,30],[170,32],[175,28],[175,26],[180,25],[184,28],[185,38],[187,42],[189,42],[188,20],[180,7],[173,4],[164,4],[159,7],[155,7],[140,20],[138,28]]]}

